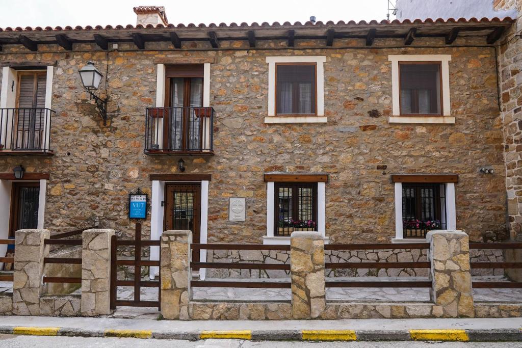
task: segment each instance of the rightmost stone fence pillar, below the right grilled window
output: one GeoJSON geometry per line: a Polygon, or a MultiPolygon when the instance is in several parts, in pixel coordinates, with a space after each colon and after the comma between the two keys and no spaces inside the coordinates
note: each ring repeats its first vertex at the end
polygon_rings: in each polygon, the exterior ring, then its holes
{"type": "Polygon", "coordinates": [[[469,317],[475,315],[469,266],[469,238],[457,230],[428,232],[430,243],[431,299],[435,317],[469,317]]]}

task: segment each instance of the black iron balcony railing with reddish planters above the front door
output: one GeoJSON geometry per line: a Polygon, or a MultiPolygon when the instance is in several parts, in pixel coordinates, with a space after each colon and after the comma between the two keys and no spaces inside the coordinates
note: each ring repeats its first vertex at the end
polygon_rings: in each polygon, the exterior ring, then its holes
{"type": "Polygon", "coordinates": [[[148,107],[145,153],[213,155],[212,107],[148,107]]]}

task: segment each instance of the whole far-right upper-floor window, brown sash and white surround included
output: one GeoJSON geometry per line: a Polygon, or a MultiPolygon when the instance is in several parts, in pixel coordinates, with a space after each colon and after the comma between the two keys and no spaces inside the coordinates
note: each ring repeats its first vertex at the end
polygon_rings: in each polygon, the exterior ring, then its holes
{"type": "Polygon", "coordinates": [[[449,54],[389,55],[390,123],[455,123],[449,101],[449,54]]]}

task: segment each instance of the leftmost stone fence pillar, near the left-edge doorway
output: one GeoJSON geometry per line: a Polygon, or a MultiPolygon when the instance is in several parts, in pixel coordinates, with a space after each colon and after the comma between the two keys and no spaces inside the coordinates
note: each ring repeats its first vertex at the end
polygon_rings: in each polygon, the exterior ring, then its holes
{"type": "Polygon", "coordinates": [[[49,238],[49,230],[15,232],[14,315],[40,315],[43,258],[49,255],[49,246],[44,245],[46,238],[49,238]]]}

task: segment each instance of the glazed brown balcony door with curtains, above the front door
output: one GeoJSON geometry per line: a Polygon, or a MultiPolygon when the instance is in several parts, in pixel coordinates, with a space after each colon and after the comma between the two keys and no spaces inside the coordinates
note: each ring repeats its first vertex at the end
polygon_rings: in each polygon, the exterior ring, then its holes
{"type": "Polygon", "coordinates": [[[202,149],[203,65],[167,67],[167,100],[170,109],[163,124],[163,148],[177,151],[202,149]]]}

